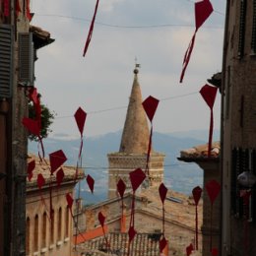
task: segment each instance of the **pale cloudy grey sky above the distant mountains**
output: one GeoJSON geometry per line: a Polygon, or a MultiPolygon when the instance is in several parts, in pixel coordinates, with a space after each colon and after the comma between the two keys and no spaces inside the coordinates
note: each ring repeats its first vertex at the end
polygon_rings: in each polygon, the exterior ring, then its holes
{"type": "MultiPolygon", "coordinates": [[[[78,107],[87,113],[85,136],[121,130],[134,79],[141,65],[142,96],[160,104],[154,130],[162,133],[209,129],[210,109],[199,94],[222,70],[224,0],[212,0],[214,13],[197,32],[183,83],[184,53],[194,32],[192,0],[99,0],[87,55],[83,50],[96,0],[31,0],[32,25],[55,41],[37,51],[35,87],[56,113],[51,136],[78,137],[78,107]]],[[[214,106],[220,128],[221,95],[214,106]]]]}

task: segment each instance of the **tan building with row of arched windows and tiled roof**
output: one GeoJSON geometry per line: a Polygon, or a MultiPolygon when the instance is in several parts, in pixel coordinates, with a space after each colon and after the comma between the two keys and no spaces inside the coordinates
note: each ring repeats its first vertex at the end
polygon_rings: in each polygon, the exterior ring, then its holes
{"type": "MultiPolygon", "coordinates": [[[[31,158],[34,159],[34,158],[31,158]]],[[[50,176],[48,166],[36,160],[32,180],[27,182],[26,196],[26,255],[72,256],[73,225],[72,215],[66,195],[75,198],[75,185],[84,178],[80,169],[75,178],[76,168],[62,166],[64,178],[58,186],[56,178],[50,176]],[[37,185],[37,174],[41,173],[45,184],[41,189],[37,185]],[[50,216],[50,201],[52,215],[50,216]]],[[[75,204],[74,204],[75,205],[75,204]]]]}

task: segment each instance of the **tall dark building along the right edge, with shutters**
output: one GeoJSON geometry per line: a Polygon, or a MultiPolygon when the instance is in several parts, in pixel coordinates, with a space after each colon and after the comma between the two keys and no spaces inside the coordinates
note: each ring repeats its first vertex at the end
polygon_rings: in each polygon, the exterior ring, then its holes
{"type": "Polygon", "coordinates": [[[226,1],[222,255],[256,255],[256,1],[226,1]]]}

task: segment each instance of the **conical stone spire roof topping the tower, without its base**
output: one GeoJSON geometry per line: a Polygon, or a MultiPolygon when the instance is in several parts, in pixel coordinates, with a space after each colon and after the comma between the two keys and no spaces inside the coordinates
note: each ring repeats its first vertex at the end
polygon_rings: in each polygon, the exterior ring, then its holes
{"type": "Polygon", "coordinates": [[[146,112],[142,105],[142,94],[138,82],[139,70],[134,70],[134,81],[126,113],[120,153],[147,154],[150,130],[146,112]]]}

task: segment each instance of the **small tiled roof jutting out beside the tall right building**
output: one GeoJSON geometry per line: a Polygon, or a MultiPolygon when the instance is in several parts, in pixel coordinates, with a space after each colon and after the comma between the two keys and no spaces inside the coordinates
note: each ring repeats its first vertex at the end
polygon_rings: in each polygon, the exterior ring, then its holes
{"type": "Polygon", "coordinates": [[[193,148],[182,150],[178,160],[197,161],[197,160],[219,160],[220,142],[214,142],[211,149],[211,157],[208,157],[208,144],[198,145],[193,148]]]}

